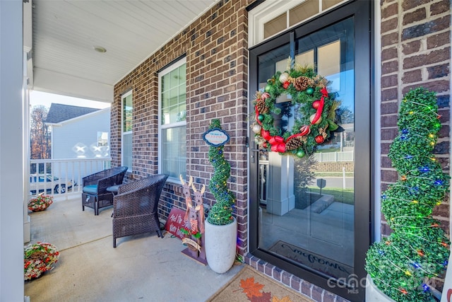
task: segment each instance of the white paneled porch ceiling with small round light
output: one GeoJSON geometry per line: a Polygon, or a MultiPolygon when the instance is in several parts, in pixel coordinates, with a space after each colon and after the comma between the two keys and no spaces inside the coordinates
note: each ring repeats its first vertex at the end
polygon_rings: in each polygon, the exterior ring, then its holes
{"type": "Polygon", "coordinates": [[[216,1],[32,0],[30,86],[112,102],[115,83],[216,1]]]}

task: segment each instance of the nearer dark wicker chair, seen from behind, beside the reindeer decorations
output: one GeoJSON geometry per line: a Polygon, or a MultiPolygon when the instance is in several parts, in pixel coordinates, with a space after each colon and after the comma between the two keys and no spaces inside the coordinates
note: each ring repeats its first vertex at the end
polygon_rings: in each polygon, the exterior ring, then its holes
{"type": "Polygon", "coordinates": [[[157,206],[168,175],[157,174],[120,185],[113,197],[113,248],[117,238],[160,231],[157,206]]]}

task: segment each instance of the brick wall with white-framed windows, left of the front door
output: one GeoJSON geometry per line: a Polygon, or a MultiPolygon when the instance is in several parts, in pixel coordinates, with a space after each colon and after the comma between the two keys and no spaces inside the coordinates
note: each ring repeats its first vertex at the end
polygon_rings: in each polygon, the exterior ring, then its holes
{"type": "MultiPolygon", "coordinates": [[[[237,197],[237,220],[242,255],[246,248],[246,146],[248,19],[251,0],[224,0],[213,6],[160,50],[114,86],[112,104],[112,164],[121,164],[121,93],[133,90],[133,172],[129,178],[157,173],[157,71],[186,55],[187,66],[187,175],[208,185],[213,168],[202,134],[210,120],[220,119],[230,134],[225,158],[231,163],[230,190],[237,197]]],[[[152,33],[150,33],[151,35],[152,33]]],[[[167,184],[162,193],[160,215],[167,217],[173,206],[185,208],[180,185],[167,184]]],[[[205,202],[213,202],[206,192],[205,202]]]]}

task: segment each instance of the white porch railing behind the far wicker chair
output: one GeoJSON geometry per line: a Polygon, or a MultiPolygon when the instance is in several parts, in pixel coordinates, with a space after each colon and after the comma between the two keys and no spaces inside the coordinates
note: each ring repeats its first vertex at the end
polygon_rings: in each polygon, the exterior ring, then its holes
{"type": "Polygon", "coordinates": [[[30,196],[40,194],[68,197],[82,191],[82,178],[110,168],[112,158],[32,159],[30,196]]]}

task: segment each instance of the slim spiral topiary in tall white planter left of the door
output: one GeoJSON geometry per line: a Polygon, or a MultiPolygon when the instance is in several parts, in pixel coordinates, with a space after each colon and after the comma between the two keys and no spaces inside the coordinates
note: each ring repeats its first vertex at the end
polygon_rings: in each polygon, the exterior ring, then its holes
{"type": "MultiPolygon", "coordinates": [[[[209,129],[221,129],[220,120],[213,120],[209,129]]],[[[216,199],[216,203],[210,209],[207,220],[215,225],[232,223],[232,205],[235,197],[227,188],[227,180],[231,175],[231,165],[225,160],[224,146],[210,146],[209,161],[213,165],[213,175],[209,182],[209,190],[216,199]]]]}

